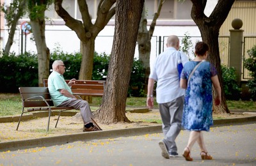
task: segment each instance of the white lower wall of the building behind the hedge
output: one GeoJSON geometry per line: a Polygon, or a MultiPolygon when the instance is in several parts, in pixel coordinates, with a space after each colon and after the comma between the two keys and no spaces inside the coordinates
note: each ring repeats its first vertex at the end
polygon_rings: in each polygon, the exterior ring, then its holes
{"type": "MultiPolygon", "coordinates": [[[[17,26],[17,29],[20,29],[20,26],[17,26]]],[[[95,40],[95,51],[98,53],[106,52],[106,54],[111,53],[112,44],[113,44],[113,35],[115,32],[115,26],[106,26],[97,36],[95,40]]],[[[15,52],[16,54],[21,53],[21,35],[20,30],[16,31],[14,37],[14,43],[11,49],[11,52],[15,52]]],[[[156,26],[154,30],[154,34],[151,40],[151,54],[150,54],[150,62],[153,62],[156,56],[159,54],[159,36],[162,36],[161,43],[161,52],[166,48],[165,43],[167,40],[167,36],[175,34],[177,36],[184,36],[185,33],[188,33],[189,36],[200,36],[200,31],[196,26],[156,26]],[[165,38],[163,39],[163,36],[165,38]]],[[[5,31],[4,36],[8,36],[7,31],[5,31]]],[[[25,38],[25,35],[23,35],[25,38]]],[[[35,41],[30,38],[33,37],[33,34],[27,35],[26,40],[26,51],[27,52],[36,52],[35,41]]],[[[67,26],[46,26],[45,27],[45,39],[47,43],[47,47],[49,47],[50,51],[53,52],[58,48],[58,50],[63,50],[63,52],[73,53],[79,52],[80,50],[80,41],[77,38],[77,35],[74,31],[71,31],[67,26]]],[[[180,37],[181,41],[182,37],[180,37]]],[[[24,39],[25,41],[25,39],[24,39]]],[[[4,38],[4,45],[7,42],[7,38],[4,38]]],[[[195,43],[195,41],[193,41],[195,43]]],[[[23,42],[25,47],[25,43],[23,42]]],[[[23,48],[24,48],[23,47],[23,48]]],[[[25,48],[23,49],[23,51],[25,48]]],[[[136,46],[134,57],[138,58],[138,47],[136,46]]],[[[150,66],[152,63],[150,63],[150,66]]]]}

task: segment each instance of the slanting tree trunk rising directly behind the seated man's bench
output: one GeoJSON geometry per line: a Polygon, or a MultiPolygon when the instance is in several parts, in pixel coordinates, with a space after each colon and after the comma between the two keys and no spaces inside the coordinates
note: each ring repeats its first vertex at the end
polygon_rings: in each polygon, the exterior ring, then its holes
{"type": "Polygon", "coordinates": [[[49,77],[50,50],[45,41],[45,10],[47,1],[29,1],[29,19],[36,42],[38,56],[38,86],[44,86],[43,79],[49,77]]]}

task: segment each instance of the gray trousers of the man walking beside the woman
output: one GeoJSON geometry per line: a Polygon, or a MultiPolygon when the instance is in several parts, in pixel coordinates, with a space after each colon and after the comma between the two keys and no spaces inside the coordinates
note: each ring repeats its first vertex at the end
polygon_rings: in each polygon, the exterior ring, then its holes
{"type": "Polygon", "coordinates": [[[175,143],[176,137],[181,130],[182,112],[183,112],[184,96],[180,96],[172,102],[159,103],[159,111],[163,122],[163,142],[169,151],[177,152],[177,146],[175,143]]]}

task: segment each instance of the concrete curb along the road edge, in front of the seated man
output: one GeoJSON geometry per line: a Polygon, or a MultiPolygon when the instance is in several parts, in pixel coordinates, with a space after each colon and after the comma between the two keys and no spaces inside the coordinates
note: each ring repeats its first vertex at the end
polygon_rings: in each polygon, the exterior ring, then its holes
{"type": "MultiPolygon", "coordinates": [[[[77,113],[77,112],[75,112],[77,113]]],[[[0,118],[1,119],[1,118],[0,118]]],[[[1,120],[0,120],[1,121],[1,120]]],[[[214,126],[227,126],[231,124],[255,123],[256,116],[233,118],[233,119],[215,119],[214,126]]],[[[53,146],[58,144],[67,144],[68,142],[88,141],[94,139],[114,139],[116,137],[130,137],[135,135],[144,135],[148,133],[161,133],[162,126],[145,126],[138,128],[125,128],[119,130],[105,130],[99,132],[75,133],[70,135],[59,135],[55,137],[44,137],[39,139],[16,140],[10,142],[0,142],[0,151],[25,149],[36,146],[53,146]]]]}

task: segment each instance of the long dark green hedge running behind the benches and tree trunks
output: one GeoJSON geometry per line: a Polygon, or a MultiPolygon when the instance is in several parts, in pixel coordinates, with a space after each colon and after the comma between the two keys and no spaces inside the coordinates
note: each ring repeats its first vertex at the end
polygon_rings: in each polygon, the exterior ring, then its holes
{"type": "MultiPolygon", "coordinates": [[[[81,54],[67,54],[54,51],[51,54],[50,66],[56,59],[61,59],[66,66],[65,79],[78,79],[81,67],[81,54]]],[[[95,52],[93,59],[92,80],[105,80],[108,75],[109,55],[95,52]]],[[[38,62],[37,56],[27,52],[16,56],[0,57],[0,92],[17,93],[20,86],[38,86],[38,62]]],[[[223,72],[223,86],[228,100],[239,100],[241,89],[236,82],[234,68],[221,66],[223,72]]],[[[51,71],[49,71],[51,73],[51,71]]],[[[145,71],[140,60],[134,59],[132,64],[131,79],[129,83],[128,96],[145,96],[145,71]]]]}

